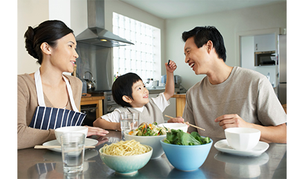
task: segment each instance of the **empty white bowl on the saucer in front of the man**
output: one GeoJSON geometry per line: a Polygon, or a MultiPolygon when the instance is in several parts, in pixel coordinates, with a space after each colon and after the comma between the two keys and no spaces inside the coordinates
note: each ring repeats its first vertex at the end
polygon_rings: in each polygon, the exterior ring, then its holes
{"type": "Polygon", "coordinates": [[[246,127],[231,127],[225,129],[229,145],[240,151],[253,149],[260,140],[260,130],[246,127]]]}

